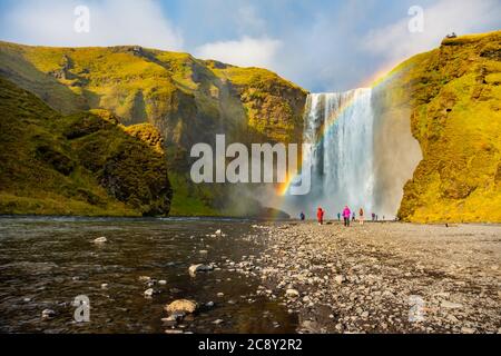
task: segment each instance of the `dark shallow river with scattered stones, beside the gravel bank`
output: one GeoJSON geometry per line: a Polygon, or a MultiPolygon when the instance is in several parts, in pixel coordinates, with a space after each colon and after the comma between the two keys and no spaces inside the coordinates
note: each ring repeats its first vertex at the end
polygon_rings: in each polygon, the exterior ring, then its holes
{"type": "Polygon", "coordinates": [[[233,266],[263,246],[250,220],[0,217],[0,333],[165,333],[175,299],[214,301],[177,329],[190,333],[294,333],[297,316],[256,295],[258,277],[233,266]],[[210,237],[222,229],[225,237],[210,237]],[[94,239],[106,237],[102,246],[94,239]],[[190,277],[193,264],[218,268],[190,277]],[[147,298],[150,286],[158,293],[147,298]],[[107,286],[104,286],[107,285],[107,286]],[[224,296],[222,296],[224,294],[224,296]],[[90,300],[90,322],[72,301],[90,300]],[[219,295],[219,296],[218,296],[219,295]],[[42,319],[45,309],[56,312],[42,319]],[[218,323],[215,323],[219,320],[218,323]],[[220,322],[223,320],[223,322],[220,322]]]}

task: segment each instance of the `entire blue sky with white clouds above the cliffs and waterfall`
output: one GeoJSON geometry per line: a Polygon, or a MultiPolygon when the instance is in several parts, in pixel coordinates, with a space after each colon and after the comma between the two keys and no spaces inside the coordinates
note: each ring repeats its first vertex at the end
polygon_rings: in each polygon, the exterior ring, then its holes
{"type": "Polygon", "coordinates": [[[0,40],[139,44],[344,91],[450,32],[499,30],[500,14],[501,0],[0,0],[0,40]]]}

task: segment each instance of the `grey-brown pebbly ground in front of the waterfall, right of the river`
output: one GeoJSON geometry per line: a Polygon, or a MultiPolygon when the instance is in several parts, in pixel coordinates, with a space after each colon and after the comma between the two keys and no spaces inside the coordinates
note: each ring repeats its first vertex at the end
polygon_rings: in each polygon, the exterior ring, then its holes
{"type": "Polygon", "coordinates": [[[264,224],[232,263],[299,333],[501,333],[501,226],[264,224]]]}

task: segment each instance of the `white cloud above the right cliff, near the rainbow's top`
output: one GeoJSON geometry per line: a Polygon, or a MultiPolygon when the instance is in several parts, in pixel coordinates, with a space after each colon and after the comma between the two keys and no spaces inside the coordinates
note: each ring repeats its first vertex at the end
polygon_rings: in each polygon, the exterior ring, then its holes
{"type": "Polygon", "coordinates": [[[424,8],[423,32],[411,33],[411,17],[373,30],[363,39],[362,49],[392,62],[406,59],[440,44],[445,34],[466,34],[483,31],[499,23],[501,2],[498,0],[441,0],[424,8]]]}

